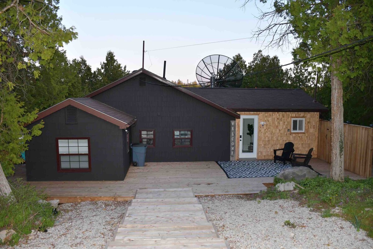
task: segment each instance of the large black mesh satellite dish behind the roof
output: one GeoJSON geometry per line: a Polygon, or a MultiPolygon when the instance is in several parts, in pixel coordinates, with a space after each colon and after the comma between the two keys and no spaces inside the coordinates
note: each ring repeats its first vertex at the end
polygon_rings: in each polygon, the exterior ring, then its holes
{"type": "Polygon", "coordinates": [[[243,79],[237,62],[224,55],[204,57],[198,63],[195,75],[202,87],[240,87],[243,79]]]}

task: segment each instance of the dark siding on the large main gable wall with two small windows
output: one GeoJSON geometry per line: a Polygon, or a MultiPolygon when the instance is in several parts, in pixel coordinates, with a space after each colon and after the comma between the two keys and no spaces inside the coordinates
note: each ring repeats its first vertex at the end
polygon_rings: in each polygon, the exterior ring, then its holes
{"type": "Polygon", "coordinates": [[[141,74],[93,98],[136,116],[134,143],[139,130],[155,130],[156,147],[147,149],[147,162],[229,160],[229,121],[235,118],[172,87],[140,87],[140,77],[162,84],[141,74]],[[173,148],[175,129],[192,129],[193,147],[173,148]]]}

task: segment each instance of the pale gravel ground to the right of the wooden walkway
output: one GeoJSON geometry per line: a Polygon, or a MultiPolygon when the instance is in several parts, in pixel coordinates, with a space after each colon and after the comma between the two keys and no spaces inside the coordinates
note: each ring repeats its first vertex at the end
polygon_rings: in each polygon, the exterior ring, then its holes
{"type": "Polygon", "coordinates": [[[292,200],[248,200],[243,196],[200,197],[220,237],[231,249],[244,248],[373,248],[366,232],[350,222],[300,207],[292,200]],[[285,227],[284,221],[297,224],[285,227]]]}

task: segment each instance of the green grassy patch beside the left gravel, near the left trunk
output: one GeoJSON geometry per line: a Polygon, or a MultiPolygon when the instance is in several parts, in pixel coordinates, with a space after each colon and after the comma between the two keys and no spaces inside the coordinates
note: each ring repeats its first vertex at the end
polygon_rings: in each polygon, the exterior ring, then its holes
{"type": "MultiPolygon", "coordinates": [[[[21,237],[30,234],[31,230],[51,227],[55,217],[50,203],[39,202],[47,197],[41,191],[24,184],[21,179],[9,183],[12,194],[0,196],[0,230],[13,229],[16,233],[7,243],[15,245],[21,237]]],[[[2,243],[0,241],[0,245],[2,243]]]]}

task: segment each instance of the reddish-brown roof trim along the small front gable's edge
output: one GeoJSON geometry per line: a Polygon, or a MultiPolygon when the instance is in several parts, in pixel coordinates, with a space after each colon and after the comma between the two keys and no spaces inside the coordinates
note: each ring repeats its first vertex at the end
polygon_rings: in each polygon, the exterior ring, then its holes
{"type": "MultiPolygon", "coordinates": [[[[113,118],[112,116],[109,116],[103,112],[100,112],[100,111],[97,111],[96,109],[93,109],[89,106],[86,106],[82,103],[79,103],[73,99],[66,99],[42,112],[39,112],[38,113],[38,117],[36,119],[34,119],[34,121],[32,121],[30,124],[56,112],[56,111],[59,111],[60,109],[62,108],[65,108],[66,106],[74,106],[78,109],[81,109],[82,111],[85,111],[85,112],[88,112],[94,116],[97,116],[98,118],[101,118],[101,119],[104,119],[105,121],[107,122],[110,122],[112,124],[115,124],[117,126],[119,126],[120,129],[125,129],[125,128],[128,128],[129,126],[131,126],[132,124],[134,124],[134,122],[136,122],[136,119],[134,119],[133,122],[130,122],[129,124],[127,124],[126,122],[123,122],[123,121],[120,121],[119,119],[116,119],[116,118],[113,118]]],[[[26,125],[29,125],[29,124],[26,124],[26,125]]],[[[25,126],[26,126],[25,125],[25,126]]]]}

